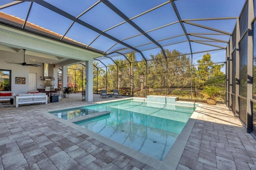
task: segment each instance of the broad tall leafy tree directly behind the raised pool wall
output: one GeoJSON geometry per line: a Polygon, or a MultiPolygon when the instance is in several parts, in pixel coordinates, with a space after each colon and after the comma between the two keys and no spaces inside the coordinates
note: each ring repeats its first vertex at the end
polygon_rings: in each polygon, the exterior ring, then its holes
{"type": "MultiPolygon", "coordinates": [[[[162,51],[156,55],[150,55],[148,84],[157,89],[163,89],[167,86],[168,91],[182,89],[190,85],[191,71],[188,67],[191,63],[190,57],[175,49],[172,51],[164,49],[164,52],[167,58],[162,51]]],[[[170,94],[170,92],[168,93],[170,94]]]]}

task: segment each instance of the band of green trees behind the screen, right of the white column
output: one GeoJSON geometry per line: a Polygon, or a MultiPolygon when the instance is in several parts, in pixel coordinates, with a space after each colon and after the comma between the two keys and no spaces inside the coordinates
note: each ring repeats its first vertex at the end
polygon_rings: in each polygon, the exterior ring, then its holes
{"type": "Polygon", "coordinates": [[[118,89],[122,95],[174,95],[197,100],[204,98],[204,85],[216,85],[225,91],[225,75],[220,71],[224,64],[211,61],[209,53],[204,54],[203,63],[199,65],[192,63],[190,55],[177,50],[165,49],[164,52],[166,58],[160,51],[146,61],[136,61],[136,53],[130,53],[124,55],[124,59],[110,58],[114,64],[106,65],[104,60],[94,62],[94,93],[100,89],[107,89],[109,93],[118,89]],[[97,67],[100,63],[105,66],[97,67]],[[212,74],[201,76],[202,69],[205,74],[212,74]]]}

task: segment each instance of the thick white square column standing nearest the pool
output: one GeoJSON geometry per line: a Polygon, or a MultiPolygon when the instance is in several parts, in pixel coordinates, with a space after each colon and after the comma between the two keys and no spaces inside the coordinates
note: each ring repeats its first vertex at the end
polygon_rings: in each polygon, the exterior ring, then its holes
{"type": "Polygon", "coordinates": [[[85,101],[93,101],[93,59],[86,61],[85,75],[87,79],[85,101]]]}

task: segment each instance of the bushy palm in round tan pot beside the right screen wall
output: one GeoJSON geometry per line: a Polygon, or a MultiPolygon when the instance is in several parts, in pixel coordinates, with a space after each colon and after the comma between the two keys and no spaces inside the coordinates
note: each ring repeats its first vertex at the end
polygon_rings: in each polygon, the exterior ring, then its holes
{"type": "Polygon", "coordinates": [[[217,100],[216,98],[220,97],[221,95],[221,88],[216,86],[206,86],[203,93],[206,93],[209,97],[206,99],[209,105],[215,105],[217,100]]]}

